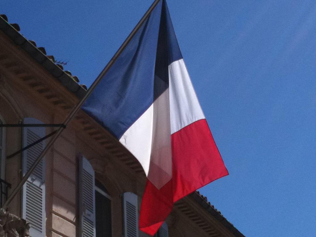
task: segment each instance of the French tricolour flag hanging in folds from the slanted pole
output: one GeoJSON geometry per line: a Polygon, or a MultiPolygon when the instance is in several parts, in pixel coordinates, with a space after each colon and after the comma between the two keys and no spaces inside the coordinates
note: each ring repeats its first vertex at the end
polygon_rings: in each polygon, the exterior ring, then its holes
{"type": "Polygon", "coordinates": [[[228,175],[198,102],[165,0],[139,28],[82,109],[140,162],[139,227],[154,235],[173,203],[228,175]]]}

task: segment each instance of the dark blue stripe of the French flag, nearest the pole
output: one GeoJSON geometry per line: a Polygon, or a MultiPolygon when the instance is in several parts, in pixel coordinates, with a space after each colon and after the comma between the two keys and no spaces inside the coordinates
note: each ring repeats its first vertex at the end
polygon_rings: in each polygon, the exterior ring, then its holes
{"type": "Polygon", "coordinates": [[[168,88],[168,65],[181,58],[163,0],[103,76],[82,110],[120,139],[168,88]]]}

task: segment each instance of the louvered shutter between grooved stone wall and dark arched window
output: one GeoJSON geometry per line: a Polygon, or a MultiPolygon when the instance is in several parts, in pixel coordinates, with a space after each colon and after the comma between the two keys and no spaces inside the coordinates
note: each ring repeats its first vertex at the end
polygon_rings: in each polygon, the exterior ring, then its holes
{"type": "Polygon", "coordinates": [[[81,237],[95,237],[94,170],[90,162],[80,157],[80,226],[81,237]]]}

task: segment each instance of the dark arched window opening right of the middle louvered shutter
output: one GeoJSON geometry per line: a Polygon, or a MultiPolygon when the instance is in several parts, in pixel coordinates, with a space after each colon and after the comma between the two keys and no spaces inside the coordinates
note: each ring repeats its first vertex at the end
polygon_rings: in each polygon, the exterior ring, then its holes
{"type": "Polygon", "coordinates": [[[111,196],[95,179],[95,236],[112,237],[111,196]]]}

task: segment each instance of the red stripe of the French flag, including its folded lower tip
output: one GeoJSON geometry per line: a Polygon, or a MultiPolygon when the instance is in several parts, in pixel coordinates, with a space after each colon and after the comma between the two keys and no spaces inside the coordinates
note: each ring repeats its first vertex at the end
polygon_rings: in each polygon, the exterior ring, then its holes
{"type": "Polygon", "coordinates": [[[228,175],[205,119],[173,133],[171,144],[173,178],[160,190],[147,180],[141,204],[139,227],[151,235],[167,218],[174,202],[228,175]]]}

